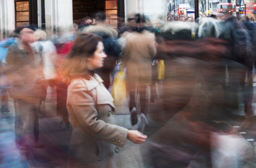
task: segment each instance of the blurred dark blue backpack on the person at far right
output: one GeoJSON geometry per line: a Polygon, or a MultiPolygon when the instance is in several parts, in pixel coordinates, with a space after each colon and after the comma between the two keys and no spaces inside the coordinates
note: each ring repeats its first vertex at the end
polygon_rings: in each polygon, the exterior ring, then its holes
{"type": "Polygon", "coordinates": [[[235,23],[237,25],[236,29],[230,24],[234,43],[234,55],[236,58],[249,59],[253,54],[251,37],[241,21],[235,21],[235,23]]]}

